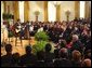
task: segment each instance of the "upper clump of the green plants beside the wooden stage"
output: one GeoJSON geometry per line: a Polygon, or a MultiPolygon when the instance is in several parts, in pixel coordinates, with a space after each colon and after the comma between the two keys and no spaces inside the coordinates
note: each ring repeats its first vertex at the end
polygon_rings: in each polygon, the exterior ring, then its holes
{"type": "Polygon", "coordinates": [[[48,41],[49,40],[49,36],[47,35],[47,32],[40,31],[40,32],[37,32],[35,35],[35,39],[38,40],[38,41],[39,40],[48,41]]]}

